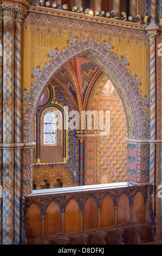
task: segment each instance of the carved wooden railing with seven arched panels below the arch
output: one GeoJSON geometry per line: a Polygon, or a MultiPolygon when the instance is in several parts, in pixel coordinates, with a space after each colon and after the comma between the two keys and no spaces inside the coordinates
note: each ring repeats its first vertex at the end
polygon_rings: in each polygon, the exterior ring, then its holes
{"type": "Polygon", "coordinates": [[[152,185],[86,187],[71,192],[40,190],[22,198],[22,243],[71,244],[73,239],[75,244],[75,239],[77,244],[138,244],[154,240],[152,185]]]}

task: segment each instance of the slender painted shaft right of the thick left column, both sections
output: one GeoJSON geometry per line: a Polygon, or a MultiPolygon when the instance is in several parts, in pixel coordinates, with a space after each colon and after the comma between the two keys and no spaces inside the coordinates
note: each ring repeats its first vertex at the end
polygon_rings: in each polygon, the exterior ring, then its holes
{"type": "MultiPolygon", "coordinates": [[[[21,142],[21,21],[15,21],[15,143],[21,142]]],[[[14,244],[21,242],[21,150],[15,149],[14,244]]]]}

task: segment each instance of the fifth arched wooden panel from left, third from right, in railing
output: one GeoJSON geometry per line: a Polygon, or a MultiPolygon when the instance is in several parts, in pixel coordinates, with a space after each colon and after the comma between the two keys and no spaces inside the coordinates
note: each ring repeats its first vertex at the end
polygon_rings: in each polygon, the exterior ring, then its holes
{"type": "Polygon", "coordinates": [[[106,196],[101,206],[101,228],[114,226],[114,207],[111,197],[106,196]]]}

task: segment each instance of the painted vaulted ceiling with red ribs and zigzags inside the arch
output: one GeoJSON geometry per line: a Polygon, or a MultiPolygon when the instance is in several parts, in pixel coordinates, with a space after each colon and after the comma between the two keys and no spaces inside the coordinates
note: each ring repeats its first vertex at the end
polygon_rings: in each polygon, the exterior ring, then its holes
{"type": "MultiPolygon", "coordinates": [[[[86,94],[89,94],[101,74],[103,75],[103,72],[94,62],[84,57],[77,57],[63,66],[53,79],[56,83],[62,84],[64,88],[66,87],[69,95],[82,106],[86,94]]],[[[87,97],[88,95],[86,99],[87,97]]]]}

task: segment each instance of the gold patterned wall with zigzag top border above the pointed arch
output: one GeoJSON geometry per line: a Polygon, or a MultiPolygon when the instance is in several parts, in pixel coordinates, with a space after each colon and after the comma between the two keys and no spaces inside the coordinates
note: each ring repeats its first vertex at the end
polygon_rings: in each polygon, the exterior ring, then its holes
{"type": "Polygon", "coordinates": [[[72,35],[79,40],[88,36],[101,42],[111,40],[112,51],[119,58],[127,58],[132,75],[141,78],[142,96],[150,98],[150,50],[145,31],[32,13],[28,13],[22,31],[23,89],[30,89],[34,81],[32,70],[37,66],[43,68],[49,60],[50,49],[61,51],[68,47],[72,35]]]}

